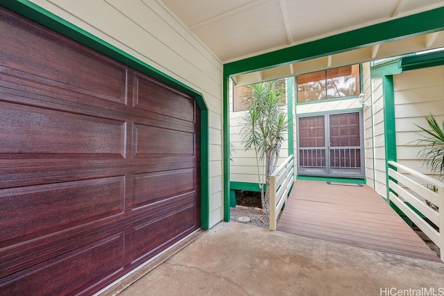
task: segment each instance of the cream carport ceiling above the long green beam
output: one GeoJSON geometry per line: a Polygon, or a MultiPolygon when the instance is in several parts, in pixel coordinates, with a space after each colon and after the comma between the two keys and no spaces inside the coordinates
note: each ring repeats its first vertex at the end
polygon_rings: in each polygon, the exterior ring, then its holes
{"type": "Polygon", "coordinates": [[[444,6],[444,0],[157,0],[223,63],[444,6]]]}

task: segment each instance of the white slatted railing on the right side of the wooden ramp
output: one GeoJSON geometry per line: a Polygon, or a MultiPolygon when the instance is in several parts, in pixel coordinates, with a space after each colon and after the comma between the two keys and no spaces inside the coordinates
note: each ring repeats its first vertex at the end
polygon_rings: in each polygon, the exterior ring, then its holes
{"type": "Polygon", "coordinates": [[[439,247],[441,260],[444,261],[444,183],[422,175],[397,162],[388,162],[388,164],[398,170],[395,171],[393,168],[388,168],[388,176],[395,180],[395,182],[393,180],[388,181],[388,188],[398,193],[398,196],[393,192],[389,193],[391,202],[396,204],[439,247]],[[422,184],[412,180],[412,177],[415,180],[419,180],[422,184]],[[434,190],[427,188],[425,185],[433,186],[434,190]],[[426,201],[431,202],[438,209],[430,207],[426,201]],[[429,225],[405,202],[409,202],[412,207],[429,219],[439,230],[437,231],[429,225]]]}

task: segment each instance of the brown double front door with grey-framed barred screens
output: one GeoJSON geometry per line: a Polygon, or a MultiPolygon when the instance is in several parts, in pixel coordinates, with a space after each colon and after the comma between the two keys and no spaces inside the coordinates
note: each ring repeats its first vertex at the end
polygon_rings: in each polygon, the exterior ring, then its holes
{"type": "Polygon", "coordinates": [[[364,177],[362,112],[300,116],[298,175],[364,177]]]}

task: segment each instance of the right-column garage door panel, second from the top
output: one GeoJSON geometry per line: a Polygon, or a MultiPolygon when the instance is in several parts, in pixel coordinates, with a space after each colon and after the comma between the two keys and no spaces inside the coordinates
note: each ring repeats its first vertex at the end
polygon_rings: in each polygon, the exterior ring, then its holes
{"type": "Polygon", "coordinates": [[[194,132],[135,124],[133,128],[133,157],[194,157],[195,137],[194,132]]]}

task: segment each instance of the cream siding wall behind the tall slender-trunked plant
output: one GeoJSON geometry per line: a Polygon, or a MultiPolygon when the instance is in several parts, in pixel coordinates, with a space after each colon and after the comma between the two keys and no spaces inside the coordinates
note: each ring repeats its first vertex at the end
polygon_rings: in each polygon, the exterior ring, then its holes
{"type": "MultiPolygon", "coordinates": [[[[230,182],[244,182],[244,183],[259,183],[259,177],[257,175],[257,162],[255,150],[245,150],[244,144],[241,143],[241,129],[244,126],[242,118],[245,114],[244,111],[233,112],[233,84],[230,83],[230,143],[234,146],[230,161],[230,182]]],[[[289,156],[288,139],[285,137],[285,141],[282,143],[280,149],[280,160],[278,165],[282,163],[284,159],[289,156]]],[[[262,168],[260,170],[262,174],[262,168]]],[[[259,186],[257,186],[259,191],[259,186]]]]}

